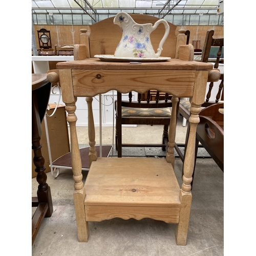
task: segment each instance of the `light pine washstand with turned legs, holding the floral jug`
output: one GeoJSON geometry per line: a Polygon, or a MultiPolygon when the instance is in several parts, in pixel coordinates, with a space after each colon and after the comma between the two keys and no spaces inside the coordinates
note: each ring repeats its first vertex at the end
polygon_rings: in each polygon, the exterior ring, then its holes
{"type": "MultiPolygon", "coordinates": [[[[149,19],[154,18],[147,15],[134,16],[136,22],[141,21],[142,23],[150,22],[149,19]],[[136,20],[136,17],[140,21],[136,20]]],[[[93,43],[90,45],[101,46],[101,49],[105,50],[104,54],[108,54],[108,47],[106,46],[113,44],[115,28],[113,18],[92,25],[90,37],[93,43]],[[95,27],[99,28],[97,33],[93,33],[95,27]],[[103,33],[107,33],[106,37],[101,34],[100,28],[103,28],[103,33]],[[99,39],[98,41],[95,41],[96,37],[99,39]],[[105,40],[101,40],[101,37],[105,40]],[[107,40],[107,38],[111,40],[107,40]]],[[[118,44],[121,31],[119,28],[117,31],[118,44]]],[[[58,70],[48,72],[49,81],[60,82],[62,100],[65,102],[68,112],[72,171],[75,181],[74,205],[78,241],[80,242],[88,241],[89,221],[112,218],[124,220],[152,218],[167,223],[176,223],[176,242],[178,245],[186,244],[191,205],[190,182],[194,169],[196,127],[199,121],[198,113],[200,112],[200,105],[204,102],[207,77],[217,75],[219,78],[219,73],[212,70],[212,65],[209,63],[193,61],[194,48],[191,45],[185,45],[184,32],[179,33],[177,37],[177,44],[175,38],[174,44],[169,48],[173,51],[172,55],[167,55],[172,56],[173,59],[165,62],[146,62],[136,65],[130,62],[100,61],[97,58],[86,59],[87,47],[80,44],[74,47],[74,61],[57,63],[58,70]],[[131,81],[137,79],[140,79],[139,86],[134,87],[131,81]],[[148,81],[151,82],[148,83],[148,81]],[[92,97],[110,90],[117,90],[119,93],[135,90],[143,94],[152,89],[173,95],[168,135],[169,148],[166,158],[97,157],[92,97]],[[86,97],[88,102],[90,170],[84,184],[76,133],[75,102],[77,97],[86,97]],[[191,97],[191,115],[193,116],[189,119],[191,124],[181,188],[174,173],[176,109],[179,97],[191,97]]],[[[89,38],[87,37],[87,39],[89,38]]],[[[91,51],[90,54],[94,56],[99,52],[91,51]]]]}

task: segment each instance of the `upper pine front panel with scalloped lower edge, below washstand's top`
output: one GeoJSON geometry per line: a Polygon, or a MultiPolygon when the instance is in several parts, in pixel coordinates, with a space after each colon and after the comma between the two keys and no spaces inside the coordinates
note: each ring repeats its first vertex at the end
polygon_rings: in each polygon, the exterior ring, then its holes
{"type": "Polygon", "coordinates": [[[72,70],[75,96],[95,96],[117,90],[121,93],[137,91],[145,93],[150,88],[179,97],[191,97],[194,91],[196,71],[145,70],[72,70]],[[118,83],[113,82],[113,76],[118,83]],[[170,87],[172,85],[172,87],[170,87]]]}

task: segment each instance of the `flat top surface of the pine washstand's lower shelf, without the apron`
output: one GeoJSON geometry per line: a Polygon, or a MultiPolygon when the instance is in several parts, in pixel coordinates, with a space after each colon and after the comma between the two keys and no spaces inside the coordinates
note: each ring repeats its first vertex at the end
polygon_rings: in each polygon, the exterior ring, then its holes
{"type": "Polygon", "coordinates": [[[84,187],[86,205],[180,206],[180,187],[165,159],[98,158],[84,187]]]}

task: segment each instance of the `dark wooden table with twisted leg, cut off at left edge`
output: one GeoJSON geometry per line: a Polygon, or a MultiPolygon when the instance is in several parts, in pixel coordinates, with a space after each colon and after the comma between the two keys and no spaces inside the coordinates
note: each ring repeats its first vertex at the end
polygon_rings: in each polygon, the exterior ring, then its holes
{"type": "Polygon", "coordinates": [[[53,212],[51,189],[46,183],[45,159],[41,154],[41,121],[45,116],[50,97],[51,83],[47,74],[32,74],[32,150],[36,166],[36,180],[39,183],[37,197],[32,197],[32,207],[37,207],[32,217],[32,245],[44,217],[51,217],[53,212]]]}

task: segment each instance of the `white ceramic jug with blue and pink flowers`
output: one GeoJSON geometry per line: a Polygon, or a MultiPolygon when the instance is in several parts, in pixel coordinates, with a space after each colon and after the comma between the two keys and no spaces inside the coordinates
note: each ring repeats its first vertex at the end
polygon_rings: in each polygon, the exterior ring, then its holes
{"type": "Polygon", "coordinates": [[[164,19],[159,19],[154,26],[151,23],[137,24],[133,18],[125,13],[119,12],[114,18],[122,30],[122,38],[116,48],[115,57],[126,58],[158,58],[163,50],[163,43],[169,34],[169,25],[164,19]],[[164,24],[165,33],[159,43],[157,53],[151,44],[150,34],[160,23],[164,24]]]}

